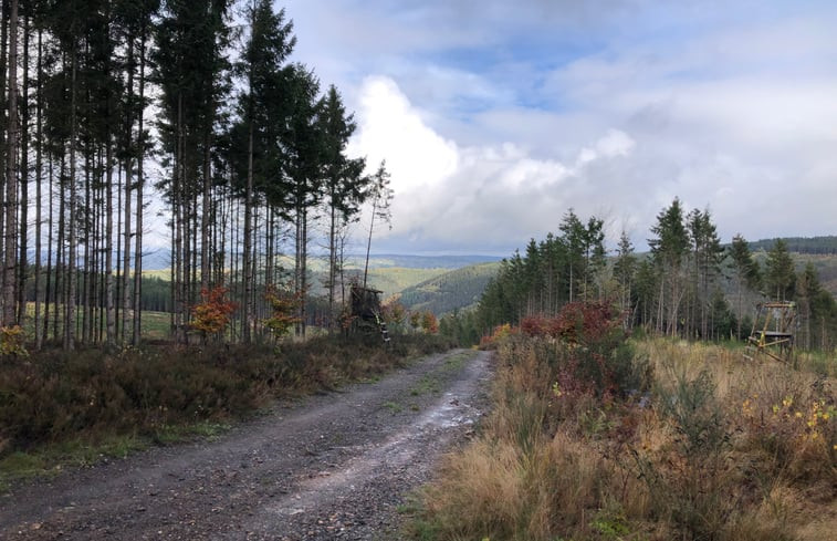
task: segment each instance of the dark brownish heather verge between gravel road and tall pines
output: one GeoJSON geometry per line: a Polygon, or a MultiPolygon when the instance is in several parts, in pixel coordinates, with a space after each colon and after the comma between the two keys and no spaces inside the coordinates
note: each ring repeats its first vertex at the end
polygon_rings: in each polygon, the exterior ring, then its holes
{"type": "Polygon", "coordinates": [[[0,490],[153,445],[213,437],[278,397],[375,378],[439,336],[271,346],[52,351],[0,363],[0,490]]]}

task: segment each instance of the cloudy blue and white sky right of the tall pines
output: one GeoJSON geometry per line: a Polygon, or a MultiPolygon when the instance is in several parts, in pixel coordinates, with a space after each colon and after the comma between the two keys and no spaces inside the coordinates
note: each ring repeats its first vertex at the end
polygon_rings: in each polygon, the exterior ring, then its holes
{"type": "Polygon", "coordinates": [[[674,197],[724,242],[837,235],[837,2],[276,6],[355,114],[347,152],[386,160],[374,252],[508,256],[571,208],[645,251],[674,197]]]}

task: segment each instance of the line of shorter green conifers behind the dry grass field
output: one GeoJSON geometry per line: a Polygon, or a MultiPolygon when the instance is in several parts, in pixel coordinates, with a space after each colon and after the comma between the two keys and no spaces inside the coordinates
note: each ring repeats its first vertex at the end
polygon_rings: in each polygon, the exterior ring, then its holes
{"type": "MultiPolygon", "coordinates": [[[[488,333],[526,316],[554,315],[573,301],[615,303],[626,329],[702,340],[750,335],[755,305],[794,301],[796,342],[830,350],[837,339],[837,301],[808,262],[797,271],[787,243],[772,242],[763,264],[736,235],[724,247],[709,209],[686,211],[678,198],[651,228],[650,253],[639,257],[625,232],[608,258],[601,220],[586,222],[571,209],[559,235],[547,235],[501,262],[473,314],[440,322],[444,329],[475,326],[488,333]]],[[[460,330],[460,332],[462,332],[460,330]]]]}

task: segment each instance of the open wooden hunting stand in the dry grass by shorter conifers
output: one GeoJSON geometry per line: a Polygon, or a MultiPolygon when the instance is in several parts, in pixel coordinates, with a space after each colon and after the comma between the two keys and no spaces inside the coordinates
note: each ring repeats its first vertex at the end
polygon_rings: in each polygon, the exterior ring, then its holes
{"type": "Polygon", "coordinates": [[[752,361],[756,355],[764,354],[782,363],[793,363],[795,331],[796,303],[780,301],[758,304],[744,357],[752,361]]]}

